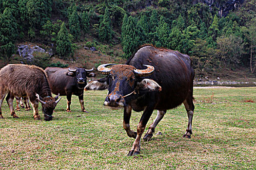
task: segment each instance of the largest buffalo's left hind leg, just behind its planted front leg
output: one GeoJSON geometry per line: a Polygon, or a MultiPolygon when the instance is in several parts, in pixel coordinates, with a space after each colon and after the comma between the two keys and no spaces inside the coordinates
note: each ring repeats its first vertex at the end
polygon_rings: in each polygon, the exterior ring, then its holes
{"type": "Polygon", "coordinates": [[[155,132],[155,129],[156,129],[158,123],[161,121],[161,119],[163,119],[163,116],[165,115],[165,113],[166,113],[166,110],[158,110],[158,115],[157,115],[156,119],[150,125],[150,127],[148,128],[148,131],[146,132],[146,134],[143,137],[144,140],[149,140],[153,136],[153,133],[155,132]]]}

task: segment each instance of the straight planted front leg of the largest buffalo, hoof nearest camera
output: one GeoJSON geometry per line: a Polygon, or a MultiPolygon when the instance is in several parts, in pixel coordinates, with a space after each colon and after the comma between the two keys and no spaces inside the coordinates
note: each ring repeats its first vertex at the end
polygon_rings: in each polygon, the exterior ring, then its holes
{"type": "Polygon", "coordinates": [[[129,151],[128,156],[136,155],[140,153],[140,138],[145,130],[146,124],[151,117],[152,113],[154,111],[154,107],[146,107],[144,110],[138,126],[137,126],[137,136],[135,138],[135,141],[133,142],[132,149],[129,151]]]}

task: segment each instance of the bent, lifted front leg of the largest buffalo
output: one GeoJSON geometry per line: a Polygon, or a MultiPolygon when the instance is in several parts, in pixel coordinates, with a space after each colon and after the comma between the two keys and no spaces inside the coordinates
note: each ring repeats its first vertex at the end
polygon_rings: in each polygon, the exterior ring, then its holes
{"type": "Polygon", "coordinates": [[[130,119],[132,114],[132,106],[128,105],[124,107],[123,111],[123,128],[129,137],[136,138],[137,132],[130,129],[130,119]]]}

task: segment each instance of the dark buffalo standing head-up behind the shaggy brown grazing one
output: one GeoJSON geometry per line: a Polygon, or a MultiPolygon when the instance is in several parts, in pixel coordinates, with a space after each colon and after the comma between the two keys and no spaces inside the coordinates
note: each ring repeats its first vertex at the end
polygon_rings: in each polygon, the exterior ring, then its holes
{"type": "Polygon", "coordinates": [[[45,73],[48,76],[51,90],[54,94],[67,96],[67,112],[71,112],[70,104],[72,94],[78,96],[81,104],[82,112],[86,112],[83,105],[83,91],[86,83],[86,77],[94,77],[92,69],[85,68],[45,68],[45,73]]]}

